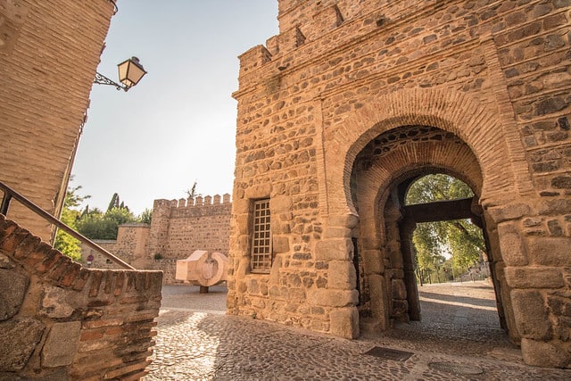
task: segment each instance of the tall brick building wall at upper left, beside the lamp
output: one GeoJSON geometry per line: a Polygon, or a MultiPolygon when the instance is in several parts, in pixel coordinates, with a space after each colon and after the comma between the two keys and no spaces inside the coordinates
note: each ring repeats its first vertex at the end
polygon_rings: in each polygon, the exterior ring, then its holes
{"type": "MultiPolygon", "coordinates": [[[[113,11],[108,0],[0,0],[0,180],[55,216],[113,11]]],[[[8,215],[50,241],[52,226],[19,203],[8,215]]]]}

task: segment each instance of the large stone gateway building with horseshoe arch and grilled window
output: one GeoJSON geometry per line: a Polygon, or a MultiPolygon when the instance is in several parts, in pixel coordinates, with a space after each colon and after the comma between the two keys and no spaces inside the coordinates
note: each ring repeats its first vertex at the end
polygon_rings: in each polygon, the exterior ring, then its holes
{"type": "Polygon", "coordinates": [[[571,367],[571,1],[278,9],[240,57],[228,311],[347,338],[421,319],[411,233],[471,218],[525,362],[571,367]],[[476,196],[406,205],[433,173],[476,196]]]}

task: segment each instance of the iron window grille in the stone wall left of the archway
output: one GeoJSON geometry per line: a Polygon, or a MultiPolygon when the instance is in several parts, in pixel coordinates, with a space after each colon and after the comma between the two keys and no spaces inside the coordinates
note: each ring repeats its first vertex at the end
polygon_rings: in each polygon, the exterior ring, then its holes
{"type": "Polygon", "coordinates": [[[252,272],[269,273],[272,261],[269,199],[253,203],[252,222],[250,269],[252,272]]]}

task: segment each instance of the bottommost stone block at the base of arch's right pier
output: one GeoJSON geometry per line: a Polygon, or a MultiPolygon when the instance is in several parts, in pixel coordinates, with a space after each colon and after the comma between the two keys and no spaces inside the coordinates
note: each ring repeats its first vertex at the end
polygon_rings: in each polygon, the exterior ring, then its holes
{"type": "Polygon", "coordinates": [[[521,339],[521,354],[528,365],[544,368],[569,368],[571,353],[561,343],[545,343],[530,338],[521,339]]]}

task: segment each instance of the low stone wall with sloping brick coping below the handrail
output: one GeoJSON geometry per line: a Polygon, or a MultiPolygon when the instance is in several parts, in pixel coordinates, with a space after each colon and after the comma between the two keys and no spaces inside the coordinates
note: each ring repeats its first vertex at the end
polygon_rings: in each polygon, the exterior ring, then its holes
{"type": "Polygon", "coordinates": [[[83,268],[0,215],[0,289],[0,379],[145,376],[161,272],[83,268]]]}

